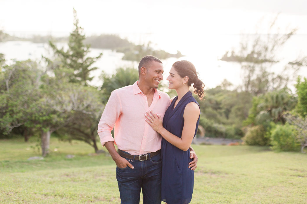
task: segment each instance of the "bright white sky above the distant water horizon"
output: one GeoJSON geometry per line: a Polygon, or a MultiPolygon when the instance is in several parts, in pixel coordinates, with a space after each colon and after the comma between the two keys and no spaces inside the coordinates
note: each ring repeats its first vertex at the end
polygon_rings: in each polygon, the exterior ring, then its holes
{"type": "Polygon", "coordinates": [[[0,29],[19,36],[68,35],[73,7],[87,35],[254,33],[261,18],[272,20],[277,13],[280,27],[307,34],[305,0],[0,0],[0,29]]]}

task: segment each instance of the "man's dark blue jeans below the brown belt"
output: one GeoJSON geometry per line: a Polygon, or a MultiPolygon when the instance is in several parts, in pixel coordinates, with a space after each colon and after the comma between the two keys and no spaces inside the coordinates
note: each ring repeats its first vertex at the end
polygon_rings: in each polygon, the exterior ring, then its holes
{"type": "Polygon", "coordinates": [[[126,160],[134,166],[134,169],[129,166],[123,169],[116,167],[121,204],[140,203],[141,188],[143,204],[161,204],[161,154],[145,161],[127,158],[126,160]]]}

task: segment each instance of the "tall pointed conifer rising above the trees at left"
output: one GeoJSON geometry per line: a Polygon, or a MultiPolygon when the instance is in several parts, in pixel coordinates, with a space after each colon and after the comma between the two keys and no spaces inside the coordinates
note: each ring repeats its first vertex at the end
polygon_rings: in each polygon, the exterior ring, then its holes
{"type": "Polygon", "coordinates": [[[51,41],[49,41],[49,44],[55,54],[60,58],[63,67],[72,70],[71,72],[73,72],[73,74],[69,76],[69,82],[87,85],[87,81],[93,79],[93,77],[89,76],[89,73],[97,69],[97,67],[91,66],[102,56],[102,53],[97,57],[87,56],[91,45],[84,46],[83,41],[85,35],[82,34],[83,28],[79,26],[79,20],[75,9],[73,9],[73,13],[75,30],[70,33],[68,50],[64,51],[64,47],[58,49],[51,41]]]}

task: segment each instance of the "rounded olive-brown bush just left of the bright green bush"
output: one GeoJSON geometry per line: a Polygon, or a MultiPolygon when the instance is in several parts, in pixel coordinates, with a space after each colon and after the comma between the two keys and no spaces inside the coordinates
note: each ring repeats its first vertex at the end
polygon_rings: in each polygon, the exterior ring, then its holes
{"type": "Polygon", "coordinates": [[[270,140],[266,137],[266,129],[262,125],[257,125],[247,129],[243,141],[247,145],[267,146],[270,140]]]}

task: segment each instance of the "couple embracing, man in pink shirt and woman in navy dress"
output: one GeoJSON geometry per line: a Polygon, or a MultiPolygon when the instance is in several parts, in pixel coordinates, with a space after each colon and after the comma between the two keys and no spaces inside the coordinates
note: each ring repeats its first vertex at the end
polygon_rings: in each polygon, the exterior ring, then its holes
{"type": "Polygon", "coordinates": [[[98,124],[100,142],[117,166],[121,203],[139,203],[141,189],[144,204],[189,203],[197,165],[190,145],[200,116],[189,88],[193,83],[194,93],[202,98],[204,84],[191,62],[177,61],[167,80],[178,96],[170,99],[157,90],[163,79],[157,57],[143,57],[138,72],[133,85],[111,93],[98,124]]]}

